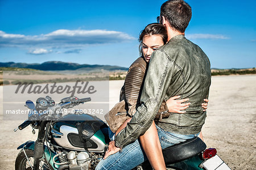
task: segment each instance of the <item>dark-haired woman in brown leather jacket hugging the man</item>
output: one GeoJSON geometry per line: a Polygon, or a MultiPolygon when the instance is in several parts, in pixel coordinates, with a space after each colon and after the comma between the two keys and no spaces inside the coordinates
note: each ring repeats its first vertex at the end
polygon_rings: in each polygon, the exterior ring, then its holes
{"type": "MultiPolygon", "coordinates": [[[[115,132],[115,135],[127,125],[127,122],[131,120],[131,117],[135,113],[137,103],[140,101],[141,87],[143,86],[143,80],[151,53],[158,47],[166,44],[167,38],[167,32],[164,26],[158,23],[148,24],[141,32],[139,36],[139,42],[141,42],[139,45],[141,57],[135,60],[129,68],[125,78],[125,84],[121,89],[120,102],[117,103],[105,117],[106,121],[109,123],[110,129],[115,132]],[[127,114],[130,117],[127,116],[127,114]]],[[[167,101],[163,101],[158,114],[156,114],[155,121],[157,121],[157,119],[168,118],[170,113],[185,113],[184,110],[187,109],[190,104],[187,102],[188,99],[176,100],[177,98],[179,98],[179,96],[171,97],[167,101]]],[[[205,99],[205,101],[208,102],[207,99],[205,99]]],[[[202,103],[202,107],[207,109],[207,103],[202,103]]],[[[145,134],[139,137],[139,140],[152,167],[154,169],[166,169],[154,121],[145,134]]]]}

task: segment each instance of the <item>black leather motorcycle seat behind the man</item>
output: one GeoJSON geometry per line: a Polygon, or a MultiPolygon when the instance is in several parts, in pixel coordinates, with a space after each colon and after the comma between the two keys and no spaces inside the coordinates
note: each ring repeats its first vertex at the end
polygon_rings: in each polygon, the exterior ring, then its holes
{"type": "Polygon", "coordinates": [[[165,148],[163,150],[164,161],[166,164],[174,164],[200,154],[206,147],[203,140],[198,137],[188,139],[174,146],[165,148]]]}

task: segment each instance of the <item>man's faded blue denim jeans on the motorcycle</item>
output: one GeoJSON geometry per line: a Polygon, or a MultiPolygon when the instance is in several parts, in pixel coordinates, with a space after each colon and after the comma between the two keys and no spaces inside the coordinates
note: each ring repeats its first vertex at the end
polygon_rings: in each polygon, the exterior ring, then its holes
{"type": "MultiPolygon", "coordinates": [[[[193,135],[180,135],[171,132],[166,132],[162,128],[156,126],[158,130],[158,137],[162,149],[170,147],[176,143],[184,142],[187,139],[192,139],[198,134],[193,135]]],[[[133,169],[139,164],[147,160],[147,156],[143,151],[139,140],[128,144],[122,149],[122,152],[117,152],[110,155],[107,159],[102,159],[97,165],[96,169],[133,169]]]]}

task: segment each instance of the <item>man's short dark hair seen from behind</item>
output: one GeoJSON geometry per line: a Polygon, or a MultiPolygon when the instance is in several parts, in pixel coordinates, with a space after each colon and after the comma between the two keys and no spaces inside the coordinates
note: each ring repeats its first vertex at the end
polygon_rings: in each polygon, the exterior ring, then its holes
{"type": "Polygon", "coordinates": [[[171,28],[185,32],[191,20],[191,7],[183,0],[169,0],[163,3],[160,10],[160,17],[166,18],[171,28]]]}

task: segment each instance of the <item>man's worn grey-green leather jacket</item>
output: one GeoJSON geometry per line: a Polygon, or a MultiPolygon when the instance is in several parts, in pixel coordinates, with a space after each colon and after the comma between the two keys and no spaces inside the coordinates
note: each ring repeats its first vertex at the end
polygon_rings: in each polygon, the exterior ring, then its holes
{"type": "Polygon", "coordinates": [[[197,134],[204,125],[206,112],[201,103],[208,98],[210,87],[210,62],[203,50],[177,35],[166,45],[156,49],[150,64],[141,94],[141,106],[126,128],[115,136],[115,146],[124,147],[134,142],[151,126],[162,101],[172,96],[189,98],[191,105],[184,114],[155,122],[165,131],[176,134],[197,134]]]}

